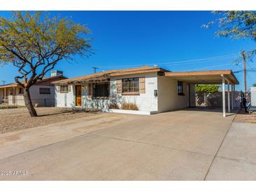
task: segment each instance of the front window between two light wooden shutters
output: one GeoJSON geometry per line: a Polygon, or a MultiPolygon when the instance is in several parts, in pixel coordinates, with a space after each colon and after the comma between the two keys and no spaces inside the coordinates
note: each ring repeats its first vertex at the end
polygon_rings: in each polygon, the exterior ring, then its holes
{"type": "Polygon", "coordinates": [[[140,80],[139,78],[123,78],[122,79],[122,92],[123,93],[136,93],[140,94],[140,80]]]}

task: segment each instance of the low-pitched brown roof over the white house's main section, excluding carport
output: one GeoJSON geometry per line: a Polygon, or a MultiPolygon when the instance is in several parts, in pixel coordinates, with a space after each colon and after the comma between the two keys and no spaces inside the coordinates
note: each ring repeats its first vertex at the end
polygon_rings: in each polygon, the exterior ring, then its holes
{"type": "Polygon", "coordinates": [[[151,73],[151,72],[166,72],[166,71],[168,70],[162,69],[159,67],[150,67],[150,66],[135,67],[131,69],[114,69],[114,70],[102,71],[100,73],[90,74],[86,76],[68,78],[60,81],[55,81],[53,83],[54,84],[85,83],[88,81],[104,80],[114,76],[123,76],[128,74],[144,74],[144,73],[151,73]]]}

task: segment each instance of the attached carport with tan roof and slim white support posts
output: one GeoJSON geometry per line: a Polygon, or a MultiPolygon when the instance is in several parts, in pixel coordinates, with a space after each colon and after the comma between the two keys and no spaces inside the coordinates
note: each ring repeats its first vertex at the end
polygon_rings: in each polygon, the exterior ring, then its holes
{"type": "Polygon", "coordinates": [[[230,112],[231,109],[234,109],[234,90],[235,85],[238,85],[239,82],[231,70],[165,72],[165,76],[191,84],[221,84],[223,117],[226,116],[225,86],[227,85],[227,109],[228,112],[230,112]]]}

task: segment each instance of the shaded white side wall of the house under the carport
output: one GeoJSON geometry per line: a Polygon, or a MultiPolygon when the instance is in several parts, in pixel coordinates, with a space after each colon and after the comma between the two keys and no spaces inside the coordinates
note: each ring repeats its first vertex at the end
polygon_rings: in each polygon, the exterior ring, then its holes
{"type": "MultiPolygon", "coordinates": [[[[189,88],[183,82],[184,95],[177,95],[177,81],[166,76],[158,77],[159,112],[189,107],[189,88]]],[[[191,85],[191,107],[195,105],[194,85],[191,85]]]]}

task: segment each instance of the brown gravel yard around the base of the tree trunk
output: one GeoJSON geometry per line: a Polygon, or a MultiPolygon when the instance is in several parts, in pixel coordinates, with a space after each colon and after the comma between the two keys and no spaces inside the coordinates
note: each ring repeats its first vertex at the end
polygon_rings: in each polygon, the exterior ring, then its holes
{"type": "Polygon", "coordinates": [[[32,118],[29,116],[27,108],[1,109],[0,133],[35,128],[41,125],[100,114],[100,112],[74,111],[72,109],[57,107],[40,107],[36,108],[36,112],[39,116],[32,118]]]}

